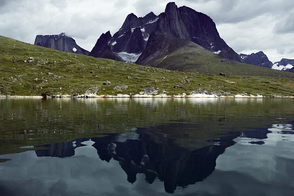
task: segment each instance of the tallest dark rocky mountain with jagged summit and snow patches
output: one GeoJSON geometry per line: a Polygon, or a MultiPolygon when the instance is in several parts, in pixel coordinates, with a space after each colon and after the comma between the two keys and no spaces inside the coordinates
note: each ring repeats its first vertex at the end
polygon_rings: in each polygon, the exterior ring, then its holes
{"type": "Polygon", "coordinates": [[[221,39],[210,17],[186,6],[178,8],[174,2],[168,3],[159,16],[153,12],[139,18],[129,14],[108,46],[124,61],[149,65],[190,42],[226,59],[245,63],[221,39]]]}

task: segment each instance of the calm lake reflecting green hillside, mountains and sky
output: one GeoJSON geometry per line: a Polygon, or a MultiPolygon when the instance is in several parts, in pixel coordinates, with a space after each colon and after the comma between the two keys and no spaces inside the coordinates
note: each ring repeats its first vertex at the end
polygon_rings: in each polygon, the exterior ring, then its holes
{"type": "Polygon", "coordinates": [[[0,98],[1,196],[292,196],[293,98],[0,98]]]}

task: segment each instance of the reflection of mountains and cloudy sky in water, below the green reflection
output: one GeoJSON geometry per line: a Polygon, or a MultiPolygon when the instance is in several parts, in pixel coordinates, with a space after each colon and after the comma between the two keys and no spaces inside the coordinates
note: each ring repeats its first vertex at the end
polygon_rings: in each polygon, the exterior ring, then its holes
{"type": "Polygon", "coordinates": [[[290,196],[294,191],[293,124],[232,132],[198,149],[175,145],[175,139],[151,130],[138,128],[1,155],[12,160],[0,164],[0,191],[4,196],[290,196]]]}

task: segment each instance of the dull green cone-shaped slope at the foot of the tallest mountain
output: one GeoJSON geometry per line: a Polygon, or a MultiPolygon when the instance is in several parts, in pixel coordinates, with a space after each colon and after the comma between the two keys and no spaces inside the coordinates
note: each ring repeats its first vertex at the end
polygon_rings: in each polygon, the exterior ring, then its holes
{"type": "Polygon", "coordinates": [[[227,60],[192,42],[156,60],[150,65],[181,72],[281,77],[294,76],[292,73],[227,60]]]}

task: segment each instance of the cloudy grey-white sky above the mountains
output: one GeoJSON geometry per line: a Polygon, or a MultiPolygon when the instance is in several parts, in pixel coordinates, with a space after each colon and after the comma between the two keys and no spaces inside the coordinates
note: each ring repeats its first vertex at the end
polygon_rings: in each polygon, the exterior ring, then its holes
{"type": "MultiPolygon", "coordinates": [[[[277,62],[294,59],[293,0],[174,0],[210,16],[237,53],[260,50],[277,62]]],[[[102,33],[113,35],[126,16],[164,12],[169,0],[0,0],[0,35],[34,43],[36,35],[66,32],[91,51],[102,33]]]]}

